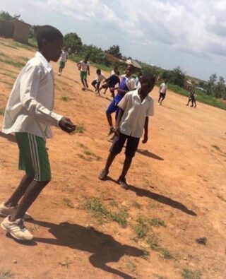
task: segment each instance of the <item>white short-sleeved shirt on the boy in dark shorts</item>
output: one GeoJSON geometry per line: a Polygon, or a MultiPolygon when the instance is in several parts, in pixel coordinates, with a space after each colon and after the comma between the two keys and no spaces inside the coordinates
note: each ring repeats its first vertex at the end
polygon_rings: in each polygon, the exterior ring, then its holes
{"type": "Polygon", "coordinates": [[[154,115],[153,99],[150,96],[146,96],[141,103],[138,90],[133,90],[124,95],[118,107],[124,110],[124,114],[121,117],[120,132],[127,136],[141,138],[145,118],[154,115]]]}

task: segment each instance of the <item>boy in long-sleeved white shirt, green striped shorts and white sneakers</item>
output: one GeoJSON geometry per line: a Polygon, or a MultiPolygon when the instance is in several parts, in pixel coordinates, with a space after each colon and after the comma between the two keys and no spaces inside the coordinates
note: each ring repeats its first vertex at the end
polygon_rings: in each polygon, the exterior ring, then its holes
{"type": "Polygon", "coordinates": [[[20,71],[6,105],[3,133],[15,133],[19,148],[19,170],[25,175],[10,198],[0,206],[5,217],[1,228],[12,237],[32,240],[25,227],[26,213],[37,196],[51,180],[46,138],[52,137],[50,126],[70,133],[76,126],[69,118],[54,113],[54,73],[49,61],[61,56],[64,36],[57,28],[41,26],[37,31],[35,57],[20,71]]]}

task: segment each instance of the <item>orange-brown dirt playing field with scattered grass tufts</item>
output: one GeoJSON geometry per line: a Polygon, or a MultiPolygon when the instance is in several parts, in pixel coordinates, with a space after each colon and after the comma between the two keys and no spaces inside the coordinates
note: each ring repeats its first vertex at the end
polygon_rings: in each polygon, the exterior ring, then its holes
{"type": "MultiPolygon", "coordinates": [[[[0,126],[11,86],[34,52],[0,40],[0,126]]],[[[157,106],[155,88],[149,141],[138,148],[125,191],[116,183],[124,153],[108,181],[97,179],[110,146],[109,92],[83,92],[71,61],[55,81],[54,111],[81,133],[53,129],[52,182],[29,210],[34,242],[20,244],[0,230],[0,278],[226,278],[226,112],[186,107],[172,92],[157,106]],[[196,242],[202,237],[206,244],[196,242]]],[[[13,137],[1,134],[0,162],[4,201],[23,175],[13,137]]]]}

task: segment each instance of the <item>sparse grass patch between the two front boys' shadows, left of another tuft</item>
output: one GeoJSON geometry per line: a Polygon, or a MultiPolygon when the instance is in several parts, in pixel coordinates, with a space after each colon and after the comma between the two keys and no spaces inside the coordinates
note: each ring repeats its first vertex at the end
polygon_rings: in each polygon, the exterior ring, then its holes
{"type": "Polygon", "coordinates": [[[85,203],[85,209],[89,210],[93,213],[93,216],[97,218],[100,222],[102,222],[102,218],[105,220],[112,220],[114,222],[119,223],[121,227],[126,227],[127,220],[126,218],[129,216],[126,208],[119,208],[118,212],[112,212],[108,210],[98,198],[90,198],[85,203]]]}

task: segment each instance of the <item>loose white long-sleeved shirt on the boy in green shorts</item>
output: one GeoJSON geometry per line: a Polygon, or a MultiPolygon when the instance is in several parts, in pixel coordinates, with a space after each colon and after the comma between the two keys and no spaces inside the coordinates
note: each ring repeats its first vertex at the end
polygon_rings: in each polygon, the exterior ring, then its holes
{"type": "Polygon", "coordinates": [[[51,138],[50,126],[59,126],[62,116],[54,108],[54,73],[40,54],[20,71],[6,105],[3,133],[27,132],[51,138]]]}

